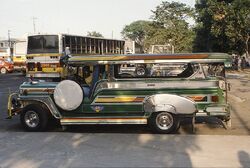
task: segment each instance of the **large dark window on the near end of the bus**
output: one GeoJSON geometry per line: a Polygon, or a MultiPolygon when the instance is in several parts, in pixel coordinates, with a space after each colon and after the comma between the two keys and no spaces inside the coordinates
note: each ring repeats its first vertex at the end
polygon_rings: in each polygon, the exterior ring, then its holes
{"type": "Polygon", "coordinates": [[[57,35],[37,35],[28,37],[28,54],[37,53],[58,53],[57,35]]]}

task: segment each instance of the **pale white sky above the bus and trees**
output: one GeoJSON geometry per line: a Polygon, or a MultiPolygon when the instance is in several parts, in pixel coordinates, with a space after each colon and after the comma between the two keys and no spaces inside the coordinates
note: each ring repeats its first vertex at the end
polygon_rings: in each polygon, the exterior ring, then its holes
{"type": "MultiPolygon", "coordinates": [[[[175,0],[194,6],[195,0],[175,0]]],[[[97,31],[105,38],[121,39],[125,25],[149,20],[162,0],[0,0],[0,37],[34,33],[87,35],[97,31]]],[[[171,1],[170,1],[171,2],[171,1]]]]}

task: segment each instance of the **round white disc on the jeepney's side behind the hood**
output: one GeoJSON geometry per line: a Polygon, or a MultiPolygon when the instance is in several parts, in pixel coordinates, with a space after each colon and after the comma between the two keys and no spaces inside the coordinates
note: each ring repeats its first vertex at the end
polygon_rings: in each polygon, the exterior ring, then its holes
{"type": "Polygon", "coordinates": [[[76,82],[63,80],[55,88],[54,99],[63,110],[75,110],[82,103],[83,91],[76,82]]]}

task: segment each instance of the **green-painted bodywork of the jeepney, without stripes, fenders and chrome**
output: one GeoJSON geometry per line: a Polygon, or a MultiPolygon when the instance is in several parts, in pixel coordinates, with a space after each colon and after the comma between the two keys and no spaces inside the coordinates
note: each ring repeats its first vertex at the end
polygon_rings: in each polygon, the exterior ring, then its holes
{"type": "MultiPolygon", "coordinates": [[[[150,81],[152,82],[152,81],[150,81]]],[[[20,89],[33,89],[35,88],[38,91],[28,92],[23,96],[36,96],[36,95],[50,95],[53,99],[53,93],[49,93],[46,89],[54,89],[57,83],[24,83],[21,85],[20,89]],[[45,89],[45,91],[39,91],[39,89],[45,89]]],[[[146,96],[154,95],[154,94],[175,94],[181,96],[192,96],[192,95],[218,95],[219,101],[217,103],[212,102],[196,102],[198,110],[205,110],[207,106],[215,106],[219,104],[225,104],[225,98],[223,96],[223,91],[218,87],[212,88],[195,88],[195,89],[187,89],[187,88],[162,88],[162,89],[102,89],[97,93],[94,93],[94,96],[89,99],[85,98],[84,102],[73,111],[64,111],[59,109],[60,113],[64,117],[83,117],[83,116],[149,116],[150,114],[146,114],[143,111],[143,102],[137,103],[95,103],[94,100],[101,96],[137,96],[141,98],[145,98],[146,96]],[[100,107],[100,111],[96,111],[95,108],[100,107]]],[[[21,96],[22,98],[22,96],[21,96]]],[[[54,99],[53,99],[54,100],[54,99]]]]}

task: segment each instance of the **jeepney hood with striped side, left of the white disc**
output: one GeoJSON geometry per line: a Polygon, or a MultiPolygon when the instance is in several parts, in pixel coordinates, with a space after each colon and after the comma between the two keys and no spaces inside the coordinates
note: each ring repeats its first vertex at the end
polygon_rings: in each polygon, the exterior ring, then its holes
{"type": "Polygon", "coordinates": [[[58,83],[56,82],[24,82],[20,87],[20,94],[52,94],[58,83]]]}

